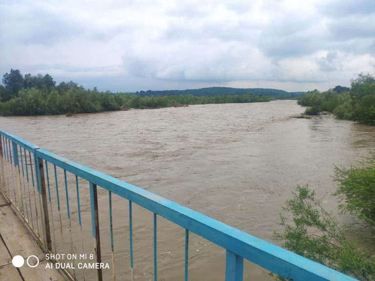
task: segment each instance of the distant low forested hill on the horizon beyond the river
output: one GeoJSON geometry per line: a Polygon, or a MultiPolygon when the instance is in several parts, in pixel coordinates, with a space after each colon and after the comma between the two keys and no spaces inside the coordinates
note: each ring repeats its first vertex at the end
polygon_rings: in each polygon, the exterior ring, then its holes
{"type": "Polygon", "coordinates": [[[229,88],[229,87],[209,87],[189,90],[163,90],[163,91],[140,91],[136,94],[141,96],[167,96],[167,95],[194,95],[194,96],[217,96],[217,95],[244,95],[246,93],[254,95],[272,96],[278,99],[300,97],[303,92],[287,92],[283,90],[267,88],[229,88]]]}

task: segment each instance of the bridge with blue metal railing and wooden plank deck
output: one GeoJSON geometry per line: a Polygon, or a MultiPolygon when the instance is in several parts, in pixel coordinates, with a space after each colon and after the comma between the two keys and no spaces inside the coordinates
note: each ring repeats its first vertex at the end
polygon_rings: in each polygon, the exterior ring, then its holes
{"type": "MultiPolygon", "coordinates": [[[[244,278],[244,260],[291,281],[354,281],[355,279],[270,242],[216,221],[145,189],[67,160],[17,136],[0,131],[0,279],[1,280],[134,280],[133,207],[152,215],[153,276],[158,280],[158,221],[181,227],[183,278],[189,280],[189,235],[198,235],[222,248],[222,280],[244,278]],[[107,196],[106,203],[103,194],[107,196]],[[83,194],[87,194],[84,200],[83,194]],[[99,195],[98,195],[99,194],[99,195]],[[115,260],[113,196],[126,207],[127,264],[115,260]],[[99,216],[108,208],[108,218],[99,216]],[[84,220],[87,211],[89,222],[84,220]],[[91,233],[83,231],[90,223],[91,233]],[[109,245],[104,254],[101,234],[109,223],[109,245]],[[127,267],[127,276],[116,276],[127,267]],[[110,272],[110,274],[104,274],[110,272]]],[[[199,258],[199,256],[198,256],[199,258]]],[[[209,271],[210,268],[207,268],[209,271]]],[[[191,277],[190,277],[191,278],[191,277]]],[[[190,279],[191,280],[191,279],[190,279]]]]}

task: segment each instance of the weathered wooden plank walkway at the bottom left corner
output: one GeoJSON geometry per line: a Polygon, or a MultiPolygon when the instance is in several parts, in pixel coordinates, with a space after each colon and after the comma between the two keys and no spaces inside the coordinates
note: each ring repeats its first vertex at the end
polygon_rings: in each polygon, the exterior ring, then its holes
{"type": "MultiPolygon", "coordinates": [[[[36,262],[30,259],[30,264],[36,262]]],[[[45,268],[47,261],[35,238],[13,211],[0,192],[0,280],[4,281],[65,281],[57,269],[45,268]],[[24,258],[23,266],[16,268],[12,257],[20,255],[24,258]],[[32,268],[26,264],[30,256],[37,256],[38,266],[32,268]]]]}

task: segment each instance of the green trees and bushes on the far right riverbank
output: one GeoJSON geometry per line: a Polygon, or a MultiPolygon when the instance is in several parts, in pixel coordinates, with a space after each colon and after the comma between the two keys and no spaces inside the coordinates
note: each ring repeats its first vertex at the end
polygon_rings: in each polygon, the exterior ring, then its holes
{"type": "Polygon", "coordinates": [[[361,73],[351,80],[351,88],[336,86],[325,92],[309,91],[302,94],[298,103],[309,106],[305,111],[308,115],[328,111],[338,119],[375,125],[375,79],[361,73]]]}

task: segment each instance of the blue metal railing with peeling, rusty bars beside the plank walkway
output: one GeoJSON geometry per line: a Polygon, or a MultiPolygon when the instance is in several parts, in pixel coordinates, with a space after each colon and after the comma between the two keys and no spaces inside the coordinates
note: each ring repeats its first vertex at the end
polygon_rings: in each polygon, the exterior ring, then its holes
{"type": "MultiPolygon", "coordinates": [[[[56,252],[57,240],[54,237],[54,229],[51,229],[50,223],[53,223],[53,211],[51,207],[51,184],[48,169],[48,165],[53,165],[53,174],[55,177],[55,189],[56,189],[56,203],[58,211],[61,211],[61,198],[59,194],[58,175],[57,167],[63,171],[63,181],[65,187],[65,198],[66,198],[66,211],[67,218],[69,221],[69,228],[71,228],[70,221],[70,208],[69,208],[69,188],[67,181],[67,173],[70,173],[75,178],[75,187],[77,194],[78,214],[79,214],[79,225],[81,227],[82,234],[82,221],[81,221],[81,208],[80,208],[80,191],[79,191],[79,179],[83,179],[89,183],[89,194],[90,194],[90,211],[91,211],[91,226],[92,226],[92,237],[95,241],[94,254],[97,262],[101,262],[101,241],[100,241],[100,229],[99,229],[99,213],[98,213],[98,186],[108,191],[109,200],[109,230],[110,230],[110,248],[112,253],[113,263],[113,274],[112,279],[116,279],[114,270],[114,243],[113,243],[113,224],[112,224],[112,195],[116,194],[125,200],[128,200],[128,212],[129,212],[129,256],[130,256],[130,272],[131,280],[133,280],[133,227],[132,227],[132,204],[137,204],[150,212],[153,213],[153,245],[154,245],[154,280],[157,280],[158,264],[157,264],[157,218],[161,216],[168,221],[171,221],[185,229],[185,280],[188,280],[188,269],[189,269],[189,232],[195,233],[208,241],[211,241],[226,250],[226,281],[239,281],[243,280],[243,267],[244,259],[251,261],[272,273],[280,275],[287,280],[314,280],[314,281],[354,281],[353,278],[339,273],[331,268],[321,265],[317,262],[311,261],[304,257],[298,256],[288,250],[285,250],[279,246],[276,246],[270,242],[261,240],[248,233],[240,231],[234,227],[224,224],[220,221],[216,221],[208,216],[193,211],[187,207],[179,205],[173,201],[169,201],[156,194],[153,194],[147,190],[134,186],[124,181],[120,181],[104,173],[98,172],[81,164],[73,161],[69,161],[59,155],[46,151],[38,146],[35,146],[27,141],[22,140],[19,137],[13,136],[6,132],[0,131],[1,135],[1,170],[0,170],[0,183],[1,190],[6,195],[7,199],[11,201],[15,207],[19,210],[22,217],[26,222],[29,223],[30,228],[34,231],[45,252],[56,252]],[[10,147],[13,147],[13,153],[10,147]],[[24,149],[22,151],[22,148],[24,149]],[[20,153],[19,153],[20,151],[20,153]],[[26,151],[29,152],[29,164],[27,164],[26,151]],[[24,162],[21,162],[20,169],[20,158],[24,158],[24,162]],[[11,181],[8,180],[8,173],[4,171],[3,160],[11,163],[14,167],[17,179],[17,187],[14,186],[11,190],[11,181]],[[34,165],[34,170],[32,166],[34,165]],[[30,169],[27,169],[30,166],[30,169]],[[32,170],[32,171],[31,171],[32,170]],[[22,173],[21,173],[22,171],[22,173]],[[29,173],[31,172],[31,177],[29,173]],[[35,175],[33,175],[35,173],[35,175]],[[23,176],[24,184],[21,184],[21,175],[23,176]],[[26,175],[26,180],[24,175],[26,175]],[[32,181],[34,186],[34,176],[37,182],[37,194],[27,193],[28,185],[26,182],[32,181]],[[23,186],[23,193],[22,193],[23,186]],[[12,194],[13,191],[13,194],[12,194]],[[16,192],[18,196],[16,195],[16,192]],[[30,196],[34,196],[30,201],[30,196]],[[38,202],[37,202],[38,201],[38,202]],[[39,208],[38,204],[39,203],[39,208]],[[31,219],[31,215],[35,205],[36,212],[42,214],[42,230],[39,230],[39,226],[34,223],[35,220],[31,219]],[[48,205],[50,210],[48,210],[48,205]],[[25,206],[25,207],[24,207],[25,206]],[[26,211],[25,211],[26,209],[26,211]],[[30,216],[26,213],[29,213],[30,216]],[[26,215],[25,215],[26,214],[26,215]],[[38,229],[38,230],[37,230],[38,229]],[[54,245],[54,249],[53,246],[54,245]]],[[[29,182],[30,183],[30,182],[29,182]]],[[[29,184],[30,185],[30,184],[29,184]]],[[[38,218],[37,218],[38,222],[38,218]]],[[[63,227],[60,213],[60,226],[61,226],[61,238],[63,239],[63,227]]],[[[72,233],[70,231],[70,239],[72,241],[72,233]]],[[[66,237],[65,237],[66,238],[66,237]]],[[[66,240],[66,239],[65,239],[66,240]]],[[[73,242],[72,242],[73,243],[73,242]]],[[[62,242],[62,246],[64,242],[62,242]]],[[[71,251],[73,251],[73,247],[71,251]]],[[[76,279],[75,272],[66,272],[71,279],[76,279]]],[[[97,280],[103,280],[102,269],[97,269],[96,272],[97,280]]],[[[83,275],[85,279],[85,275],[83,275]]]]}

